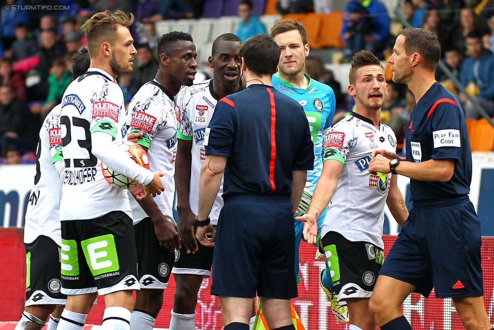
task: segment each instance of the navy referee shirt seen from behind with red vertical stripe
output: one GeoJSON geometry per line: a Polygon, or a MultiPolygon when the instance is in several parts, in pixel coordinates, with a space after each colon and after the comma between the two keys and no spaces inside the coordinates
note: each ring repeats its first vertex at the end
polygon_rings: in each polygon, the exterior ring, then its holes
{"type": "Polygon", "coordinates": [[[223,198],[290,197],[293,170],[311,170],[314,143],[302,105],[255,84],[221,99],[204,136],[206,155],[228,157],[223,198]]]}

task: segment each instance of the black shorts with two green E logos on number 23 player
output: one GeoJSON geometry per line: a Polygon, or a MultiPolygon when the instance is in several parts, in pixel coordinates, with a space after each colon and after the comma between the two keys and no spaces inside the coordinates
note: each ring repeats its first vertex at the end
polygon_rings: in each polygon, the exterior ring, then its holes
{"type": "Polygon", "coordinates": [[[132,219],[112,211],[90,220],[62,221],[62,292],[103,296],[138,290],[132,219]]]}

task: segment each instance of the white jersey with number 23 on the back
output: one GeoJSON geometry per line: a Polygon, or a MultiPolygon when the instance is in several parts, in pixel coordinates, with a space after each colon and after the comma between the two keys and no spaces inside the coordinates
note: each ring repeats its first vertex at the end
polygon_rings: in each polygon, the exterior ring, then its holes
{"type": "Polygon", "coordinates": [[[60,219],[94,219],[117,210],[132,216],[127,191],[108,184],[91,153],[96,131],[110,134],[115,144],[127,140],[123,93],[107,72],[90,68],[67,87],[60,127],[65,159],[60,219]]]}

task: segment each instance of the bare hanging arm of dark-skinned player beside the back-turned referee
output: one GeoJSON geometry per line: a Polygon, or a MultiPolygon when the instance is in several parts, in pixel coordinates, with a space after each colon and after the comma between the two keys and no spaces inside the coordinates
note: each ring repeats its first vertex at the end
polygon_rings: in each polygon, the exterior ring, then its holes
{"type": "Polygon", "coordinates": [[[175,186],[177,189],[178,232],[187,253],[197,251],[194,234],[195,214],[189,203],[190,174],[192,169],[192,140],[178,139],[175,160],[175,186]]]}

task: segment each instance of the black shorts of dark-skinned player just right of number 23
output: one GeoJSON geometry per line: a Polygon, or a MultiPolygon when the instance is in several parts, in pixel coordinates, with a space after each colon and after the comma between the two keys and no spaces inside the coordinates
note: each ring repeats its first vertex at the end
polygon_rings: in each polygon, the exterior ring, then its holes
{"type": "Polygon", "coordinates": [[[137,247],[137,275],[142,289],[166,289],[175,262],[175,250],[159,245],[154,223],[145,217],[134,225],[137,247]]]}

